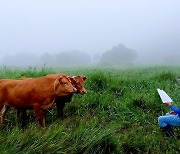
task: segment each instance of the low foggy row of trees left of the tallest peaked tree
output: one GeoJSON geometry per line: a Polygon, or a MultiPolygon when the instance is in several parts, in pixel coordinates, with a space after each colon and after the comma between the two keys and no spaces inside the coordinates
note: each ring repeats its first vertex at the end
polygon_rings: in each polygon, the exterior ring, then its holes
{"type": "Polygon", "coordinates": [[[91,57],[85,52],[68,51],[56,54],[45,53],[40,56],[30,53],[18,53],[13,56],[6,56],[3,65],[7,66],[64,66],[64,65],[84,65],[91,62],[91,57]]]}

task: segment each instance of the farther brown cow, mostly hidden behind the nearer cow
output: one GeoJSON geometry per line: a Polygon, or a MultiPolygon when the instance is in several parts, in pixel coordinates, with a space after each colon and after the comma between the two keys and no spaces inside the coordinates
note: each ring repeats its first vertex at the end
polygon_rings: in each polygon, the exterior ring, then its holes
{"type": "MultiPolygon", "coordinates": [[[[66,74],[49,74],[47,77],[55,78],[58,75],[66,74]]],[[[78,94],[86,94],[86,89],[84,88],[84,81],[87,79],[85,76],[73,76],[74,80],[72,80],[73,86],[77,89],[78,94]]],[[[59,96],[56,98],[55,103],[57,107],[57,112],[59,117],[63,117],[63,109],[66,102],[71,102],[73,94],[69,94],[67,96],[59,96]]]]}

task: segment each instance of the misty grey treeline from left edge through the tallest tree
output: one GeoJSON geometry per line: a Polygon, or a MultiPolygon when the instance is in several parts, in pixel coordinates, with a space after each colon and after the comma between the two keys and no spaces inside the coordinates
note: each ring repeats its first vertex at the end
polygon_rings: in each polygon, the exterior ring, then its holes
{"type": "Polygon", "coordinates": [[[18,53],[8,55],[3,58],[3,65],[6,66],[81,66],[90,64],[100,65],[120,65],[131,64],[137,57],[137,53],[132,49],[120,44],[103,54],[91,56],[89,53],[78,50],[64,51],[59,53],[45,53],[40,56],[33,53],[18,53]]]}

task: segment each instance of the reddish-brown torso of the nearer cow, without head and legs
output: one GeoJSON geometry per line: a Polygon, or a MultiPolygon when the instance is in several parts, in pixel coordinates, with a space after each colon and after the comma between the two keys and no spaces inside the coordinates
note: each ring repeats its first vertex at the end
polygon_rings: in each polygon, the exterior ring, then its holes
{"type": "Polygon", "coordinates": [[[47,78],[3,81],[0,98],[5,105],[29,108],[33,103],[44,103],[51,99],[54,95],[53,84],[54,80],[47,78]]]}

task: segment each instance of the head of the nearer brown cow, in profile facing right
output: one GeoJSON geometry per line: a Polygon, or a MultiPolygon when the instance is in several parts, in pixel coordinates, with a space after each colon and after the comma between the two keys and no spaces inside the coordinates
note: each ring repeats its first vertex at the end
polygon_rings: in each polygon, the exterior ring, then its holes
{"type": "Polygon", "coordinates": [[[54,90],[58,96],[66,96],[77,92],[68,76],[59,76],[54,82],[54,90]]]}

